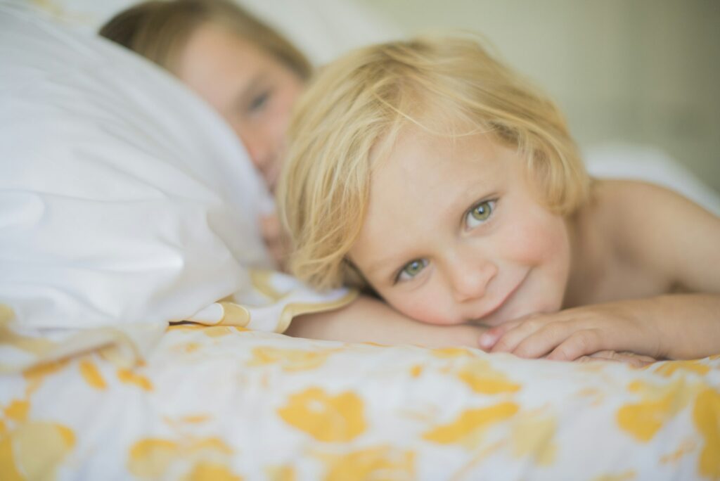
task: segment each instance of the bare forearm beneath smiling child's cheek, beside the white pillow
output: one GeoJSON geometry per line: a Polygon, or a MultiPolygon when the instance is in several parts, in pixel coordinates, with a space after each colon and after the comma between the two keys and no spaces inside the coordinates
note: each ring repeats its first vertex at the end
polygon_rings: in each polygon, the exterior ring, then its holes
{"type": "Polygon", "coordinates": [[[477,325],[431,325],[406,318],[384,302],[360,296],[342,309],[301,315],[285,333],[328,341],[415,344],[425,347],[479,348],[487,328],[477,325]]]}

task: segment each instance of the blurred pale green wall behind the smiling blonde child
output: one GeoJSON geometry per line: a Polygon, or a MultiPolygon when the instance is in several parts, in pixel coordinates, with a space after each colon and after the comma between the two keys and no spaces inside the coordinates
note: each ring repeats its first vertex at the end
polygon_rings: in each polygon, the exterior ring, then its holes
{"type": "Polygon", "coordinates": [[[481,32],[583,147],[654,145],[720,191],[719,0],[354,0],[406,34],[481,32]]]}

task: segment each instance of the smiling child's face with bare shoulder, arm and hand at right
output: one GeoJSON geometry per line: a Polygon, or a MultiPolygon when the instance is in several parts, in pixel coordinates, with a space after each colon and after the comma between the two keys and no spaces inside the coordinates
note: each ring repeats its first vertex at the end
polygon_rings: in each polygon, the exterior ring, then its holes
{"type": "Polygon", "coordinates": [[[596,181],[564,219],[522,162],[486,135],[403,132],[374,171],[349,259],[410,318],[492,326],[480,337],[490,351],[720,352],[717,217],[657,186],[596,181]]]}

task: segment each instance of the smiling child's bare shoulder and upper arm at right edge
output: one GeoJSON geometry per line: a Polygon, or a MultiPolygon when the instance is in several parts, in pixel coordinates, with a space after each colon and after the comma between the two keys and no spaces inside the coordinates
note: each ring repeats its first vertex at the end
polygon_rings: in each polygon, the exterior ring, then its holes
{"type": "Polygon", "coordinates": [[[711,272],[720,265],[716,215],[680,194],[642,181],[595,181],[592,204],[598,230],[626,261],[690,290],[720,283],[713,281],[720,276],[711,272]]]}

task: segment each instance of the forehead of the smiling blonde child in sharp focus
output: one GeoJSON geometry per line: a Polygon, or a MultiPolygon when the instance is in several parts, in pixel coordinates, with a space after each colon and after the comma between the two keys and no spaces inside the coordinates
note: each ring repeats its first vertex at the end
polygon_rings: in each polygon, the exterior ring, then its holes
{"type": "Polygon", "coordinates": [[[369,202],[351,259],[415,243],[447,224],[459,225],[468,203],[506,189],[519,164],[513,150],[487,135],[458,138],[403,130],[377,158],[369,202]],[[467,205],[466,205],[467,204],[467,205]]]}

